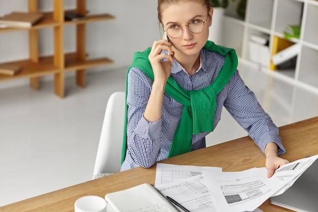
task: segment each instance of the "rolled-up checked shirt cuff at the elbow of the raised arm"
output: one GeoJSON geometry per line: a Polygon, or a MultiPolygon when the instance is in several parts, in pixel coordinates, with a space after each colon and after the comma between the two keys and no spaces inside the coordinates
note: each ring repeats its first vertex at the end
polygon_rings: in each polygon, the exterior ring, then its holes
{"type": "Polygon", "coordinates": [[[135,129],[135,133],[143,139],[155,140],[161,138],[162,118],[157,122],[148,122],[144,116],[141,117],[135,129]]]}

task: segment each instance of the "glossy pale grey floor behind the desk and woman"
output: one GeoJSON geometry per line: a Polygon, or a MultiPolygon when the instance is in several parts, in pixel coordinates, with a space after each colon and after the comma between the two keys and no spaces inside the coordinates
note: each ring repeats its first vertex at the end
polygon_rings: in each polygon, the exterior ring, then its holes
{"type": "MultiPolygon", "coordinates": [[[[318,115],[317,93],[257,66],[240,63],[239,70],[277,126],[318,115]]],[[[70,78],[63,99],[53,94],[52,82],[38,92],[28,86],[0,90],[0,206],[92,178],[107,100],[124,90],[125,72],[88,72],[84,89],[70,78]]],[[[207,145],[246,135],[225,111],[207,145]]]]}

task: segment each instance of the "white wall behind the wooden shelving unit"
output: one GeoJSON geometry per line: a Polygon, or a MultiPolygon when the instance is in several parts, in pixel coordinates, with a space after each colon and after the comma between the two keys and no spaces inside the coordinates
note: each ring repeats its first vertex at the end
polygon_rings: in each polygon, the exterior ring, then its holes
{"type": "MultiPolygon", "coordinates": [[[[52,11],[53,0],[39,0],[41,11],[52,11]]],[[[75,0],[65,0],[66,9],[75,8],[75,0]]],[[[161,39],[161,27],[158,24],[154,0],[87,0],[87,9],[91,14],[110,13],[114,20],[98,21],[87,24],[86,51],[88,57],[109,57],[114,64],[94,70],[114,70],[128,67],[133,53],[150,47],[154,40],[161,39]]],[[[25,0],[0,0],[0,16],[11,11],[27,11],[25,0]]],[[[74,51],[75,25],[65,26],[65,52],[74,51]]],[[[53,30],[40,30],[40,54],[53,54],[53,30]]],[[[28,58],[27,31],[0,33],[0,63],[28,58]]],[[[74,75],[74,72],[68,73],[74,75]]],[[[52,79],[52,76],[44,79],[52,79]]],[[[28,84],[28,79],[0,82],[0,89],[28,84]]]]}

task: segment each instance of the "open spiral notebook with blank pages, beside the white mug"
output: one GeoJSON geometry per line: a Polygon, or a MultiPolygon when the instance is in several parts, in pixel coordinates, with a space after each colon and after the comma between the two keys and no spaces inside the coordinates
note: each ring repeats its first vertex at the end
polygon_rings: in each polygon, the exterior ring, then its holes
{"type": "Polygon", "coordinates": [[[179,211],[153,185],[146,183],[129,189],[108,193],[105,195],[105,200],[116,212],[179,211]]]}

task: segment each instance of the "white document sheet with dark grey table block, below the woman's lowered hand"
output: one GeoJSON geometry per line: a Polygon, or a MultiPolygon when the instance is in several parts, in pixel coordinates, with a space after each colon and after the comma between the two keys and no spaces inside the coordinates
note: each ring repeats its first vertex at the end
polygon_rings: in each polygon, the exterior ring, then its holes
{"type": "Polygon", "coordinates": [[[253,211],[276,193],[284,182],[267,178],[267,169],[252,168],[240,172],[202,172],[216,211],[253,211]]]}

